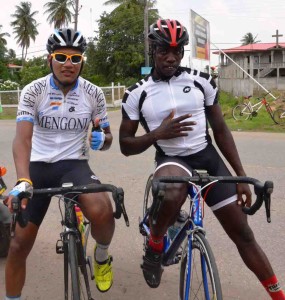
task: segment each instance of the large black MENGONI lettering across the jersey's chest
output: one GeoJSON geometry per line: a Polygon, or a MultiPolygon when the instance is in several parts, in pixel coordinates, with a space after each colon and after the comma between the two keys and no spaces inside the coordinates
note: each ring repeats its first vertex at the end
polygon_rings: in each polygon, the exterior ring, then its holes
{"type": "Polygon", "coordinates": [[[39,126],[51,130],[85,130],[88,129],[89,118],[67,118],[40,116],[39,126]]]}

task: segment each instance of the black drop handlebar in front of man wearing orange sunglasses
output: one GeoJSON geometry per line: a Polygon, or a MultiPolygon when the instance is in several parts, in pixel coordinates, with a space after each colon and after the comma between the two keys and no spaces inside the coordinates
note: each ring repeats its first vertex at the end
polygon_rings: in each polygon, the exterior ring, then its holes
{"type": "MultiPolygon", "coordinates": [[[[129,218],[124,205],[124,191],[121,187],[116,187],[112,184],[87,184],[87,185],[79,185],[73,186],[72,183],[63,184],[61,187],[56,188],[44,188],[44,189],[34,189],[34,195],[45,195],[48,197],[62,195],[66,197],[68,194],[88,194],[88,193],[99,193],[99,192],[111,192],[112,198],[115,202],[115,212],[114,217],[116,219],[120,219],[123,214],[126,226],[130,226],[129,218]]],[[[21,210],[21,200],[23,198],[30,198],[30,195],[27,193],[20,193],[17,197],[13,197],[12,199],[12,226],[11,226],[11,236],[14,235],[14,229],[16,222],[18,221],[21,227],[25,227],[27,225],[27,220],[22,214],[21,210]]]]}

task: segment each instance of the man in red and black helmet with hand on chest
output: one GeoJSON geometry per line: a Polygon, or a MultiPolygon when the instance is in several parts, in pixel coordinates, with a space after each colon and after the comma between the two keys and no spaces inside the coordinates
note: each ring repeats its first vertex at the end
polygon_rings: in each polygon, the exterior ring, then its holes
{"type": "MultiPolygon", "coordinates": [[[[231,173],[213,146],[209,124],[229,165],[238,176],[245,176],[233,136],[223,118],[215,81],[209,74],[180,66],[189,40],[186,28],[176,20],[158,20],[150,26],[148,37],[153,68],[150,75],[124,95],[119,137],[122,153],[140,154],[153,145],[154,177],[187,176],[191,175],[191,168],[205,169],[213,176],[228,176],[231,173]],[[143,135],[136,135],[139,123],[145,129],[143,135]]],[[[168,184],[157,224],[151,225],[142,270],[152,288],[159,286],[163,272],[164,234],[177,219],[187,192],[183,184],[168,184]]],[[[209,190],[206,202],[272,299],[285,299],[241,210],[241,206],[251,205],[249,186],[216,184],[209,190]]]]}

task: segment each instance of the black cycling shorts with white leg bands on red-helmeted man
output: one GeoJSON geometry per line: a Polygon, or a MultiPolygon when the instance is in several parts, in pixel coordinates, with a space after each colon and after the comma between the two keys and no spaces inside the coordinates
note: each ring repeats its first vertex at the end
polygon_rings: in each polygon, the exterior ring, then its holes
{"type": "MultiPolygon", "coordinates": [[[[211,176],[231,176],[222,158],[212,144],[204,150],[188,156],[166,156],[156,152],[156,169],[160,165],[173,164],[180,166],[191,174],[193,169],[206,170],[211,176]]],[[[202,191],[204,197],[205,190],[202,191]]],[[[235,183],[215,183],[209,189],[205,199],[211,209],[217,210],[237,200],[235,183]]]]}

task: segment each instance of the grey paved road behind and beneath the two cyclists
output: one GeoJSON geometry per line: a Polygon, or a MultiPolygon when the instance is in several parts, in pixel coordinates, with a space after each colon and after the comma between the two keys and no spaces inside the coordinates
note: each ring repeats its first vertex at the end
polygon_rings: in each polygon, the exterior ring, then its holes
{"type": "MultiPolygon", "coordinates": [[[[110,249],[114,256],[114,286],[106,294],[100,294],[93,287],[94,297],[96,300],[177,299],[178,266],[167,268],[160,287],[154,290],[145,284],[139,267],[142,237],[138,232],[138,218],[144,184],[153,169],[153,150],[149,149],[144,155],[128,158],[121,155],[118,145],[120,113],[110,112],[110,119],[114,144],[107,152],[93,152],[91,166],[97,170],[97,175],[103,182],[124,188],[131,226],[126,228],[123,220],[116,222],[116,232],[110,249]]],[[[0,121],[0,164],[5,164],[8,168],[6,180],[9,187],[12,187],[16,179],[11,153],[14,132],[13,121],[0,121]]],[[[257,240],[268,254],[281,284],[285,286],[285,134],[236,132],[234,137],[248,175],[256,176],[260,180],[271,179],[275,183],[272,223],[266,223],[264,210],[261,209],[254,217],[250,217],[250,224],[257,240]]],[[[220,271],[224,299],[269,299],[255,276],[243,265],[235,246],[209,210],[206,210],[205,225],[220,271]]],[[[23,299],[63,299],[62,256],[55,253],[60,229],[57,202],[54,201],[28,260],[23,299]]],[[[4,265],[5,260],[0,260],[0,299],[4,295],[4,265]]]]}

